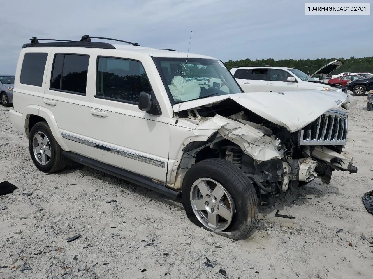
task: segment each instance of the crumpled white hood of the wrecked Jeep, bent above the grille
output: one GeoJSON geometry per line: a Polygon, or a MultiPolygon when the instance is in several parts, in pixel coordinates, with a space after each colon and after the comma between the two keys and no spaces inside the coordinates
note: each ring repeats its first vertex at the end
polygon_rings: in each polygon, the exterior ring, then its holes
{"type": "Polygon", "coordinates": [[[322,90],[294,90],[284,92],[246,92],[212,96],[173,106],[174,112],[197,108],[232,99],[270,122],[291,132],[310,124],[327,110],[338,109],[343,103],[354,105],[356,100],[349,94],[322,90]]]}

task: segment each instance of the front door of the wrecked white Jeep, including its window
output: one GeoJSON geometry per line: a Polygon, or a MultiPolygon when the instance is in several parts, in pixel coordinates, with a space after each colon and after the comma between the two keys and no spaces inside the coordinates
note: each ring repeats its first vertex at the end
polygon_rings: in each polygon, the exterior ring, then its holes
{"type": "Polygon", "coordinates": [[[97,57],[95,86],[90,87],[87,134],[94,157],[166,182],[169,118],[138,108],[140,92],[152,87],[140,61],[97,57]]]}

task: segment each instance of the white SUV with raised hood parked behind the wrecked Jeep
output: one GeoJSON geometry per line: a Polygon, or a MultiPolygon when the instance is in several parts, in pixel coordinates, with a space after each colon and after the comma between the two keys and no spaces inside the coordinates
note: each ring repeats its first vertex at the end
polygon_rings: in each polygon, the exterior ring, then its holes
{"type": "MultiPolygon", "coordinates": [[[[336,84],[325,83],[314,77],[327,75],[339,68],[342,61],[335,60],[323,66],[311,76],[303,71],[286,67],[237,67],[231,73],[245,92],[279,92],[288,90],[326,90],[347,93],[346,88],[336,84]]],[[[352,97],[351,97],[352,98],[352,97]]]]}

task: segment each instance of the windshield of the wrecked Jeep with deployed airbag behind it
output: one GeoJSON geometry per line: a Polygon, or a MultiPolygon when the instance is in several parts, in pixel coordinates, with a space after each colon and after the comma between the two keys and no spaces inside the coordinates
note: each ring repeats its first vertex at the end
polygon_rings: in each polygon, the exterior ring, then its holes
{"type": "Polygon", "coordinates": [[[173,104],[241,93],[221,61],[202,58],[154,58],[173,104]],[[185,79],[184,79],[185,75],[185,79]]]}

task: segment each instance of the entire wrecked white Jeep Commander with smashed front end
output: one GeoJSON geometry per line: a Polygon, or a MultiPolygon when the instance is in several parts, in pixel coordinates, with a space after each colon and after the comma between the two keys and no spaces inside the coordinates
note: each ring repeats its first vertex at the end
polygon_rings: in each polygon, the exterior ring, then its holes
{"type": "Polygon", "coordinates": [[[194,224],[232,239],[254,230],[269,193],[356,173],[334,110],[344,93],[253,95],[216,58],[92,38],[32,38],[19,55],[10,119],[40,171],[70,159],[181,196],[194,224]]]}

